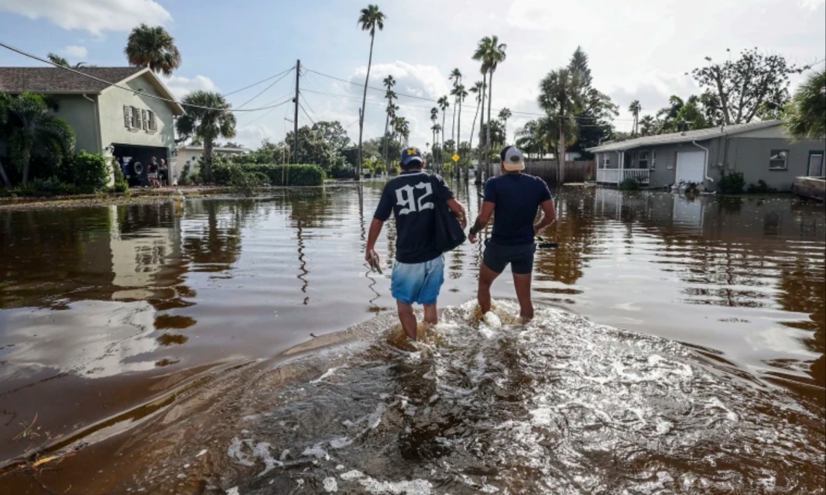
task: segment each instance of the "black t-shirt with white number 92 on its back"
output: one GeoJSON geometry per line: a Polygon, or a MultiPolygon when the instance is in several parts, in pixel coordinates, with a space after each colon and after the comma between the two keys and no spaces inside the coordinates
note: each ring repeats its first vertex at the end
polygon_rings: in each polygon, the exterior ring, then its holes
{"type": "Polygon", "coordinates": [[[396,217],[396,261],[423,263],[439,257],[436,247],[434,201],[446,201],[453,191],[438,174],[401,172],[387,182],[373,218],[387,221],[396,217]]]}

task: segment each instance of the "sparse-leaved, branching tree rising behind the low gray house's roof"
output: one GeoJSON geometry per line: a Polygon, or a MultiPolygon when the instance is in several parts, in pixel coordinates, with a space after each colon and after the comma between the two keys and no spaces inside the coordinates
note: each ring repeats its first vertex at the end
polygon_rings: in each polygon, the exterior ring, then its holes
{"type": "Polygon", "coordinates": [[[789,100],[789,76],[808,67],[790,64],[782,55],[743,50],[738,59],[695,68],[691,76],[719,101],[725,125],[746,124],[763,111],[783,108],[789,100]]]}

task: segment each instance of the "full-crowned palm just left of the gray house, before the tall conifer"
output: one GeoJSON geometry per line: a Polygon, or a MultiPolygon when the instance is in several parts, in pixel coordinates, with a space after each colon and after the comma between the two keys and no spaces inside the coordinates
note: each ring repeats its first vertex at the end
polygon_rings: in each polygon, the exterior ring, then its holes
{"type": "Polygon", "coordinates": [[[539,106],[558,120],[558,184],[565,181],[565,134],[576,133],[576,121],[572,115],[577,115],[582,108],[581,88],[580,72],[569,68],[551,71],[539,83],[539,106]]]}

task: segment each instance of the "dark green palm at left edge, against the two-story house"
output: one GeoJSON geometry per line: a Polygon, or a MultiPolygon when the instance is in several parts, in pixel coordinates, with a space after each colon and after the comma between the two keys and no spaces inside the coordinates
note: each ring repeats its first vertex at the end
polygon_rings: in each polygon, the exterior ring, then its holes
{"type": "MultiPolygon", "coordinates": [[[[12,97],[0,92],[0,135],[7,136],[12,165],[21,172],[23,184],[29,181],[34,149],[43,149],[55,166],[74,152],[74,130],[53,116],[54,110],[56,106],[44,95],[26,92],[12,97]]],[[[2,167],[0,175],[11,186],[2,167]]]]}

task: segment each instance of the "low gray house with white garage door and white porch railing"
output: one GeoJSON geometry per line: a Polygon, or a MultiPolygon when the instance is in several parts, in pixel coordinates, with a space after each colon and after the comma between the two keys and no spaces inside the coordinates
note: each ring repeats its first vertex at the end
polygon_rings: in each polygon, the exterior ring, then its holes
{"type": "Polygon", "coordinates": [[[602,184],[635,178],[651,187],[693,182],[715,191],[729,171],[743,172],[747,186],[762,180],[777,191],[790,191],[795,177],[826,173],[826,141],[792,140],[781,124],[767,120],[658,134],[588,151],[596,155],[596,181],[602,184]]]}

